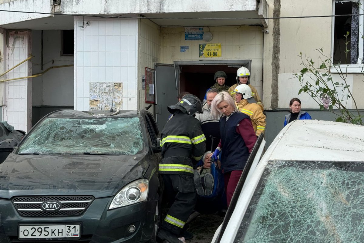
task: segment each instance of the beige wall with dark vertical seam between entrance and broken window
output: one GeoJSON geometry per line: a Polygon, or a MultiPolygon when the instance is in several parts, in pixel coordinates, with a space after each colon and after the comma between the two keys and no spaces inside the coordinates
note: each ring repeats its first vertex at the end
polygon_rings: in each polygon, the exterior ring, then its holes
{"type": "MultiPolygon", "coordinates": [[[[316,0],[267,0],[267,3],[269,17],[273,17],[274,11],[281,17],[332,14],[332,1],[320,1],[320,4],[317,4],[316,0]],[[277,2],[281,2],[280,9],[277,2]]],[[[268,26],[269,34],[264,36],[264,108],[288,108],[292,97],[301,99],[302,108],[318,108],[317,103],[309,95],[303,93],[298,95],[300,85],[298,80],[293,78],[293,73],[303,68],[298,57],[300,52],[308,57],[308,60],[312,58],[315,62],[318,60],[315,49],[323,48],[325,55],[331,56],[332,18],[269,19],[268,26]],[[276,27],[279,25],[280,36],[274,24],[276,27]],[[279,70],[274,64],[277,64],[279,70]],[[275,94],[277,88],[278,95],[275,94]]]]}

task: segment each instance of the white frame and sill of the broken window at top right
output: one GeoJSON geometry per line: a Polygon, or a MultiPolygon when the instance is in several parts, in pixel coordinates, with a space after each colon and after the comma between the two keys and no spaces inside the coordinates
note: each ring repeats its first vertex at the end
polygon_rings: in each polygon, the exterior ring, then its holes
{"type": "MultiPolygon", "coordinates": [[[[332,0],[332,26],[331,26],[331,60],[334,60],[334,32],[335,32],[335,1],[337,0],[332,0]]],[[[342,2],[348,2],[351,0],[340,0],[342,2]]],[[[358,41],[358,45],[359,45],[359,57],[358,60],[361,60],[363,62],[363,53],[364,53],[364,47],[363,47],[363,38],[361,38],[360,35],[364,35],[364,0],[359,0],[360,3],[360,8],[359,8],[359,41],[358,41]]],[[[364,63],[357,63],[357,64],[339,64],[338,65],[341,69],[342,72],[344,73],[363,73],[364,69],[364,63]],[[346,71],[346,72],[345,72],[346,71]]],[[[331,67],[330,68],[330,72],[331,73],[340,73],[339,68],[334,68],[331,67]]]]}

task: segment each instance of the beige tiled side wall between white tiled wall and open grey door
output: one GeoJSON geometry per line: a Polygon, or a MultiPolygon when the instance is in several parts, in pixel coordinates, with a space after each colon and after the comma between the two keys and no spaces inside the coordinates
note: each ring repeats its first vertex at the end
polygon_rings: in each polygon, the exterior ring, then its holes
{"type": "MultiPolygon", "coordinates": [[[[139,108],[146,107],[145,89],[142,89],[142,75],[145,68],[154,69],[154,63],[161,59],[161,28],[150,20],[140,21],[140,60],[139,60],[139,108]]],[[[153,109],[150,109],[153,112],[153,109]]]]}

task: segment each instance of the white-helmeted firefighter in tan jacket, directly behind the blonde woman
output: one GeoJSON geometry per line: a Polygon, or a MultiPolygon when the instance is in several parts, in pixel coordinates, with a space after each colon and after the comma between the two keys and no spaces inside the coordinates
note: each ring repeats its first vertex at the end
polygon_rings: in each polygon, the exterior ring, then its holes
{"type": "Polygon", "coordinates": [[[265,115],[263,114],[260,105],[255,103],[255,100],[252,97],[252,90],[249,85],[238,85],[234,89],[234,95],[236,99],[235,104],[238,107],[238,110],[250,116],[255,134],[259,136],[265,131],[265,115]]]}

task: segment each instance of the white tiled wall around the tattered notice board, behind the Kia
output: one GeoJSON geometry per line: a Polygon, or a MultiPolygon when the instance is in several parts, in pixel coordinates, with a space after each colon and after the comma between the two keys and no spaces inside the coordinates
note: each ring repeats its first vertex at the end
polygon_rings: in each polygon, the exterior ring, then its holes
{"type": "Polygon", "coordinates": [[[90,83],[123,83],[122,109],[137,109],[138,20],[75,17],[74,107],[88,110],[90,83]]]}

